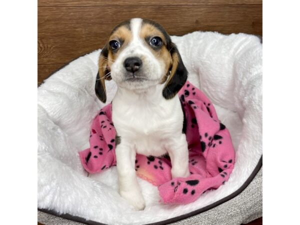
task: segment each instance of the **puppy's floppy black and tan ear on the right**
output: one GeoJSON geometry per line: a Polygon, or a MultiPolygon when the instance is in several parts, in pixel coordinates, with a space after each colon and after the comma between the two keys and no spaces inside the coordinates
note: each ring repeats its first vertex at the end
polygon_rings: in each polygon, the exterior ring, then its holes
{"type": "Polygon", "coordinates": [[[173,42],[170,42],[168,48],[172,57],[172,65],[169,69],[170,74],[162,90],[162,95],[165,99],[174,97],[187,79],[187,70],[182,62],[176,45],[173,42]]]}

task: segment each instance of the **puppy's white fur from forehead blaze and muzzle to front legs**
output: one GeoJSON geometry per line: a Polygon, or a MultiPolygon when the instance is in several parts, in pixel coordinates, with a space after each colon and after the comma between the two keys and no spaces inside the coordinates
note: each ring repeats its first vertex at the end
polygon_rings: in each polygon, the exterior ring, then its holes
{"type": "Polygon", "coordinates": [[[143,209],[145,202],[135,175],[136,153],[153,156],[168,153],[172,177],[189,175],[180,100],[178,95],[168,100],[162,96],[164,84],[159,82],[165,75],[164,65],[159,66],[158,60],[141,40],[141,23],[140,18],[131,19],[132,40],[114,61],[110,73],[118,86],[112,100],[112,121],[121,140],[115,149],[119,193],[137,210],[143,209]],[[123,62],[133,56],[142,59],[141,76],[149,78],[150,82],[143,80],[132,85],[132,81],[124,77],[123,62]]]}

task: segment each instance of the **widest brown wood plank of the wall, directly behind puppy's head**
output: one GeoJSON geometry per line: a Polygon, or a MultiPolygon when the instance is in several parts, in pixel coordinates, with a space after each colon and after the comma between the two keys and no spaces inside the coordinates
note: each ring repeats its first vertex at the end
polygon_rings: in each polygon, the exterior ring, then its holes
{"type": "Polygon", "coordinates": [[[42,7],[38,8],[38,64],[66,63],[101,48],[112,28],[133,16],[153,19],[171,35],[195,30],[261,35],[261,10],[261,5],[42,7]]]}

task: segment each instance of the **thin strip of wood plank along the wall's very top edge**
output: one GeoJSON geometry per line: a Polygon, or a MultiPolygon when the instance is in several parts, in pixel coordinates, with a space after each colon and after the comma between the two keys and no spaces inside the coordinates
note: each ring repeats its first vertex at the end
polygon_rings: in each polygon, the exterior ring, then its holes
{"type": "Polygon", "coordinates": [[[262,0],[38,0],[39,7],[47,6],[128,6],[128,5],[215,5],[262,4],[262,0]]]}

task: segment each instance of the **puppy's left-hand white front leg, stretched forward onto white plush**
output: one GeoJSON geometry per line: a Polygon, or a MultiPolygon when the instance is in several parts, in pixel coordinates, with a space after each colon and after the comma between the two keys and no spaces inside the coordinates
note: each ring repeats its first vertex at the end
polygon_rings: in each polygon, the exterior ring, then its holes
{"type": "Polygon", "coordinates": [[[127,144],[120,143],[115,148],[116,167],[118,173],[119,194],[136,210],[145,207],[135,174],[135,151],[127,144]]]}

